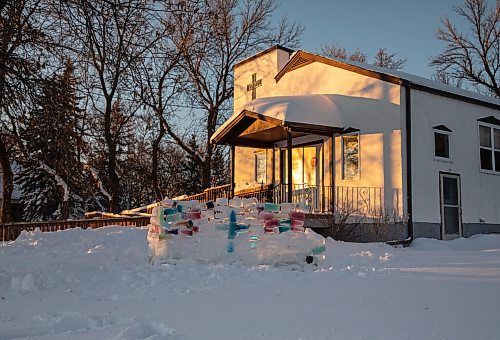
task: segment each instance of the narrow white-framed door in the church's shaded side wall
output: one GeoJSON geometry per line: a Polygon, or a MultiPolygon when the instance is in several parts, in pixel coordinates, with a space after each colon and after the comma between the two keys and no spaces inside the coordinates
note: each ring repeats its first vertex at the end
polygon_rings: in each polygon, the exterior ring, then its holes
{"type": "Polygon", "coordinates": [[[462,236],[462,200],[460,175],[439,174],[441,205],[441,238],[449,240],[462,236]]]}

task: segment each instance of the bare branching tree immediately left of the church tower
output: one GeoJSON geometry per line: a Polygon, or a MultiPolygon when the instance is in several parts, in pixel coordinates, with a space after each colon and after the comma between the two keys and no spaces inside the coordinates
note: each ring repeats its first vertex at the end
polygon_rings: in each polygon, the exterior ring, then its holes
{"type": "Polygon", "coordinates": [[[199,131],[205,142],[202,153],[190,148],[174,126],[167,133],[202,168],[202,186],[211,186],[212,158],[216,146],[210,137],[227,117],[233,97],[233,67],[236,62],[273,44],[295,47],[303,31],[284,18],[277,28],[271,17],[273,0],[205,0],[181,2],[193,6],[192,15],[179,16],[178,38],[185,43],[182,66],[189,83],[187,98],[201,113],[199,131]]]}

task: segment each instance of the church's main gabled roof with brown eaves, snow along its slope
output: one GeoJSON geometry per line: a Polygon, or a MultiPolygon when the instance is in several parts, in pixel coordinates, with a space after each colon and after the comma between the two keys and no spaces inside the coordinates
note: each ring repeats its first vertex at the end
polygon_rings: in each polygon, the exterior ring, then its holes
{"type": "Polygon", "coordinates": [[[334,67],[342,68],[351,72],[362,74],[368,77],[380,79],[393,84],[405,85],[415,88],[417,90],[451,97],[473,104],[483,105],[494,109],[500,109],[500,99],[481,95],[476,92],[467,91],[458,87],[446,85],[431,79],[419,77],[413,74],[378,67],[375,65],[358,63],[355,61],[326,58],[318,54],[306,51],[296,51],[288,63],[276,75],[275,79],[278,82],[286,73],[294,69],[306,66],[313,62],[320,62],[323,64],[331,65],[334,67]]]}

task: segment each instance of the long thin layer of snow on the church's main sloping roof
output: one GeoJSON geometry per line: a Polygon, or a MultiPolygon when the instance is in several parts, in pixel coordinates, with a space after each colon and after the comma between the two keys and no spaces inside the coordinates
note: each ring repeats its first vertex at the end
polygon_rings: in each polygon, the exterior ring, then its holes
{"type": "Polygon", "coordinates": [[[424,87],[427,87],[427,88],[430,88],[430,89],[434,89],[434,90],[437,90],[437,91],[443,91],[443,92],[455,94],[455,95],[458,95],[458,96],[472,98],[472,99],[475,99],[475,100],[479,100],[479,101],[490,103],[490,104],[494,104],[494,105],[500,105],[500,99],[489,97],[489,96],[485,96],[485,95],[479,94],[477,92],[467,91],[467,90],[464,90],[464,89],[461,89],[461,88],[458,88],[458,87],[455,87],[455,86],[443,84],[443,83],[435,81],[435,80],[431,80],[431,79],[428,79],[428,78],[416,76],[416,75],[409,74],[409,73],[406,73],[406,72],[402,72],[402,71],[398,71],[398,70],[393,70],[393,69],[388,69],[388,68],[379,67],[379,66],[370,65],[370,64],[364,64],[364,63],[360,63],[360,62],[356,62],[356,61],[350,61],[350,60],[338,59],[338,58],[331,58],[331,57],[324,57],[324,56],[321,56],[321,55],[318,55],[318,54],[314,54],[314,53],[311,53],[311,52],[305,52],[305,51],[302,51],[302,52],[304,52],[306,54],[314,55],[314,56],[319,56],[319,57],[322,57],[322,58],[327,58],[327,59],[333,60],[333,61],[338,62],[338,63],[343,63],[343,64],[346,64],[346,65],[351,65],[351,66],[359,67],[359,68],[362,68],[362,69],[365,69],[365,70],[368,70],[368,71],[372,71],[372,72],[376,72],[376,73],[381,73],[381,74],[385,74],[385,75],[388,75],[388,76],[392,76],[392,77],[396,77],[396,78],[399,78],[399,79],[403,79],[403,80],[409,81],[410,83],[413,83],[413,84],[416,84],[416,85],[421,85],[421,86],[424,86],[424,87]]]}

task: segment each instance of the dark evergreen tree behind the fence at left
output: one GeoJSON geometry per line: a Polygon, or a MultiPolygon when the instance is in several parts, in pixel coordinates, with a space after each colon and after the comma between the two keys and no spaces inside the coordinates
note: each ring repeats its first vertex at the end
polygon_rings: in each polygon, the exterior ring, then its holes
{"type": "Polygon", "coordinates": [[[21,185],[26,220],[81,217],[85,142],[73,65],[45,81],[37,107],[21,122],[21,185]]]}

